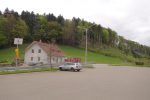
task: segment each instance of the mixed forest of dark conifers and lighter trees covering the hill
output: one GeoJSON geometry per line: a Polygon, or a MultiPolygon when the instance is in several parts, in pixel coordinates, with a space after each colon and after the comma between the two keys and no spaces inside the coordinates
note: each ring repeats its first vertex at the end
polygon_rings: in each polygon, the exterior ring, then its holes
{"type": "Polygon", "coordinates": [[[38,14],[14,10],[0,11],[0,49],[13,46],[14,38],[23,38],[24,43],[42,40],[73,47],[85,47],[87,29],[88,49],[98,52],[102,48],[117,48],[135,58],[150,58],[150,47],[127,40],[111,28],[88,22],[84,19],[65,19],[53,13],[38,14]]]}

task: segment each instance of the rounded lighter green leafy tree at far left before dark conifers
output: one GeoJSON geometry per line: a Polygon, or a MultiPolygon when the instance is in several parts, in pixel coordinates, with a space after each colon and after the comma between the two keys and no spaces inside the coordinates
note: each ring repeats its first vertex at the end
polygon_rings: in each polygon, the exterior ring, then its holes
{"type": "Polygon", "coordinates": [[[27,25],[22,19],[15,19],[14,16],[1,16],[0,22],[1,40],[6,39],[4,43],[11,46],[15,37],[25,37],[27,25]]]}

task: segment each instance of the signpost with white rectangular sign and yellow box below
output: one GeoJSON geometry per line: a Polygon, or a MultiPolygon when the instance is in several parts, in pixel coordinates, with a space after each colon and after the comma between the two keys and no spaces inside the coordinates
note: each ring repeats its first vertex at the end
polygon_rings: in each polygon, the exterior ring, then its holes
{"type": "Polygon", "coordinates": [[[16,67],[18,66],[18,60],[19,60],[19,47],[18,47],[18,45],[22,45],[22,43],[23,43],[23,39],[22,38],[15,38],[14,39],[14,44],[17,45],[17,48],[15,49],[15,53],[16,53],[16,57],[15,57],[16,67]]]}

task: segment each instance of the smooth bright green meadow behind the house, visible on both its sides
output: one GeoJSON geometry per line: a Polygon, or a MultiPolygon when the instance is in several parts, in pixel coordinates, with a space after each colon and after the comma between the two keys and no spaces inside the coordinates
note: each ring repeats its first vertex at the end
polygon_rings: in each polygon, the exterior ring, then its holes
{"type": "MultiPolygon", "coordinates": [[[[19,46],[21,59],[24,58],[25,47],[27,47],[27,44],[19,46]]],[[[64,53],[67,57],[79,57],[79,58],[81,58],[82,62],[84,62],[85,51],[83,49],[74,48],[74,47],[65,46],[65,45],[59,45],[59,47],[64,51],[64,53]]],[[[14,60],[14,56],[15,56],[14,50],[15,50],[15,47],[1,49],[0,50],[0,55],[1,55],[0,61],[6,60],[9,63],[11,63],[14,60]]],[[[90,52],[90,51],[88,51],[88,62],[90,62],[90,63],[108,63],[108,64],[123,63],[123,61],[119,58],[108,57],[108,56],[90,52]]]]}

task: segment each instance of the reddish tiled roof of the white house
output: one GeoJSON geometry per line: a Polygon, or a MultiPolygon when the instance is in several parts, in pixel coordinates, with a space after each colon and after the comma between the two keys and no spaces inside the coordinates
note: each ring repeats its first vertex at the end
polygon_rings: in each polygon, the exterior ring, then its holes
{"type": "Polygon", "coordinates": [[[43,42],[33,41],[26,49],[27,52],[33,45],[39,45],[47,54],[51,53],[51,56],[65,56],[64,52],[61,51],[56,44],[47,44],[43,42]]]}

